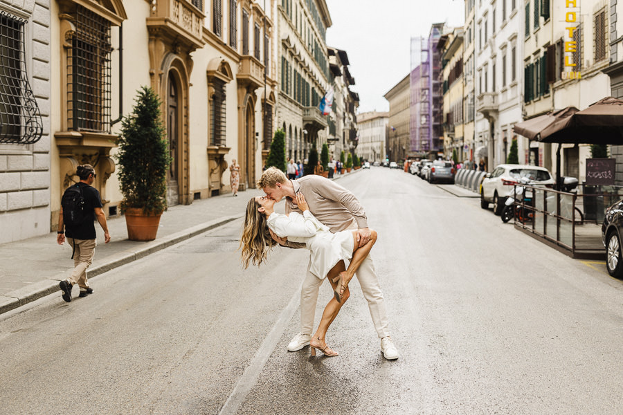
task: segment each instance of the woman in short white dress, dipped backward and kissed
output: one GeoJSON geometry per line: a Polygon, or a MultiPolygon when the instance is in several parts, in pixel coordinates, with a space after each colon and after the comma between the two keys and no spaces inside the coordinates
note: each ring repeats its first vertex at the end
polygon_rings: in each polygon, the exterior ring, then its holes
{"type": "Polygon", "coordinates": [[[242,264],[244,268],[249,267],[250,262],[260,266],[266,260],[268,251],[277,244],[271,237],[269,228],[288,241],[305,243],[305,248],[309,249],[311,255],[311,273],[319,279],[328,277],[334,291],[334,297],[325,307],[318,330],[309,342],[311,356],[316,356],[316,349],[325,356],[338,356],[336,351],[327,346],[325,335],[341,306],[350,296],[348,283],[377,241],[377,232],[370,230],[370,241],[359,248],[356,231],[331,233],[327,226],[309,212],[302,193],[296,194],[296,204],[303,214],[291,212],[286,216],[274,211],[273,199],[256,196],[249,201],[240,240],[242,264]],[[350,259],[348,268],[345,268],[345,259],[350,259]]]}

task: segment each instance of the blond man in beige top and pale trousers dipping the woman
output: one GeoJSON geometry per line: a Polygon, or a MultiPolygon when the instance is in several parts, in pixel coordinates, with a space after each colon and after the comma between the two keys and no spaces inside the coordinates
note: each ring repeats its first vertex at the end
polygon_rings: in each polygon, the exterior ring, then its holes
{"type": "MultiPolygon", "coordinates": [[[[270,167],[262,173],[262,177],[258,181],[258,188],[263,190],[267,197],[275,201],[280,201],[285,197],[287,214],[293,211],[300,213],[298,206],[294,204],[294,197],[296,193],[301,192],[305,196],[311,214],[327,225],[331,232],[356,229],[359,246],[365,245],[370,239],[368,219],[361,204],[351,192],[334,181],[317,175],[288,180],[280,169],[270,167]]],[[[273,239],[282,246],[303,247],[279,238],[273,232],[271,234],[273,239]]],[[[374,329],[377,330],[377,335],[381,339],[383,356],[388,360],[395,360],[398,358],[398,351],[389,335],[383,293],[381,293],[379,279],[374,273],[374,264],[372,264],[370,256],[363,260],[356,272],[356,277],[359,280],[363,297],[368,300],[374,329]]],[[[309,344],[313,332],[316,302],[318,302],[318,289],[322,283],[323,280],[314,277],[309,272],[308,265],[303,288],[300,292],[300,333],[288,344],[289,351],[303,349],[309,344]]]]}

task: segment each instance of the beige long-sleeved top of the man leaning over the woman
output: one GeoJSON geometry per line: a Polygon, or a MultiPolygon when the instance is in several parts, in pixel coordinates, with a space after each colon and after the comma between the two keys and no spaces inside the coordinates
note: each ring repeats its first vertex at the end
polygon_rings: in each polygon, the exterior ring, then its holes
{"type": "MultiPolygon", "coordinates": [[[[309,175],[291,181],[294,192],[303,193],[309,211],[331,232],[346,230],[356,221],[357,228],[368,228],[368,218],[357,198],[341,185],[322,176],[309,175]]],[[[292,199],[285,199],[285,212],[301,213],[292,199]]]]}

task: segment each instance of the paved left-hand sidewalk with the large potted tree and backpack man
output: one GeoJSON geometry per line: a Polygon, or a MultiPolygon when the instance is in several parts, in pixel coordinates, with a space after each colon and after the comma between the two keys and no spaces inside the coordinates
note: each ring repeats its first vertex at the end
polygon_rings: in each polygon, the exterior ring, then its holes
{"type": "MultiPolygon", "coordinates": [[[[120,216],[108,219],[111,241],[105,244],[104,232],[96,223],[98,246],[87,275],[91,279],[240,219],[244,217],[249,199],[260,194],[263,194],[260,190],[250,189],[238,192],[237,197],[224,194],[193,201],[191,205],[172,206],[162,214],[156,239],[149,242],[129,241],[125,217],[120,216]]],[[[71,246],[68,243],[59,246],[56,232],[0,244],[0,314],[51,293],[58,292],[60,299],[58,283],[67,279],[73,270],[73,259],[70,258],[71,246]]]]}

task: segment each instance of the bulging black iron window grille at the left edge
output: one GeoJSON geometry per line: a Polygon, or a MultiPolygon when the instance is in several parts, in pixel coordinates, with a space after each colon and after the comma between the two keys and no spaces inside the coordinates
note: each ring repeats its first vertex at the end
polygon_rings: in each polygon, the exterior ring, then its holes
{"type": "Polygon", "coordinates": [[[35,94],[26,75],[26,21],[0,12],[0,143],[33,144],[43,133],[35,94]]]}

